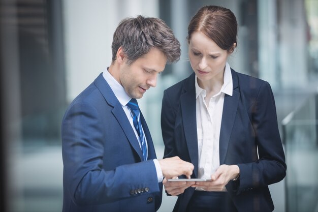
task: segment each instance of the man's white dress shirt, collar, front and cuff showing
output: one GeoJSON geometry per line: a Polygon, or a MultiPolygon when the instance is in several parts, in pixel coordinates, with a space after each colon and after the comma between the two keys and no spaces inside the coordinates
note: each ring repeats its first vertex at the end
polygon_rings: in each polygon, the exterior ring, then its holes
{"type": "MultiPolygon", "coordinates": [[[[119,103],[121,104],[123,111],[126,113],[126,116],[127,116],[128,120],[129,120],[129,122],[130,122],[130,124],[135,132],[136,138],[138,139],[138,143],[139,143],[139,146],[141,149],[141,140],[140,140],[140,137],[139,137],[137,130],[134,126],[133,117],[131,115],[131,112],[127,106],[127,104],[129,103],[129,101],[132,98],[130,96],[128,96],[128,94],[125,92],[125,89],[123,88],[123,86],[121,84],[119,84],[119,82],[108,72],[108,68],[106,71],[103,72],[103,77],[107,81],[107,83],[109,84],[112,91],[114,92],[116,98],[118,99],[119,103]]],[[[142,129],[142,132],[144,133],[143,129],[142,129]]],[[[146,146],[148,149],[148,143],[147,143],[146,136],[144,136],[144,138],[145,138],[146,146]]],[[[148,154],[148,151],[147,151],[147,154],[148,154]]],[[[164,178],[160,164],[159,164],[157,159],[153,159],[153,163],[154,163],[155,168],[156,168],[158,183],[160,183],[164,178]]]]}

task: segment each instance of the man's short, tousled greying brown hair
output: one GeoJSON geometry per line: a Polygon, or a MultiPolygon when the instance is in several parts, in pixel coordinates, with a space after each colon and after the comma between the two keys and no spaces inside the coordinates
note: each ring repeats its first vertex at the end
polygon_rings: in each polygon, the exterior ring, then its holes
{"type": "Polygon", "coordinates": [[[123,19],[116,28],[112,43],[112,62],[116,60],[119,47],[130,65],[151,48],[162,51],[168,63],[177,62],[180,58],[180,43],[167,24],[159,19],[143,17],[123,19]]]}

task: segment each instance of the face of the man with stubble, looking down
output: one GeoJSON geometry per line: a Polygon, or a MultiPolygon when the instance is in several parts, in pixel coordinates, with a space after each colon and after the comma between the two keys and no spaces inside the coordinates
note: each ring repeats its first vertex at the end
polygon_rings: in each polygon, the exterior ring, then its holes
{"type": "Polygon", "coordinates": [[[150,86],[156,86],[157,75],[164,71],[166,63],[165,54],[152,48],[131,65],[120,66],[119,83],[131,98],[140,99],[150,86]]]}

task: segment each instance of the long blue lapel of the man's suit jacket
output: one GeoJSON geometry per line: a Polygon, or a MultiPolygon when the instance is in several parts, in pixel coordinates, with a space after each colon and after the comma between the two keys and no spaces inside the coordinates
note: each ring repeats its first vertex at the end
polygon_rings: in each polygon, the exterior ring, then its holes
{"type": "MultiPolygon", "coordinates": [[[[104,79],[103,74],[101,73],[96,80],[94,81],[97,88],[100,90],[102,95],[104,96],[107,103],[113,107],[112,113],[117,119],[119,125],[121,126],[122,131],[126,135],[128,141],[135,149],[136,153],[138,154],[141,161],[143,161],[143,155],[141,152],[141,148],[139,146],[139,142],[136,138],[135,132],[129,123],[129,120],[122,109],[119,101],[117,100],[116,96],[114,95],[112,89],[108,85],[107,81],[104,79]]],[[[148,137],[147,137],[148,139],[148,137]]]]}

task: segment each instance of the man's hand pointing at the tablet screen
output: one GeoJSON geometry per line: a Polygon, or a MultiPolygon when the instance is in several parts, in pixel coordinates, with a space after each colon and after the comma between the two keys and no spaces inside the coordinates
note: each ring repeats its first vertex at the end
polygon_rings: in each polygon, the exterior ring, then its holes
{"type": "Polygon", "coordinates": [[[170,179],[174,176],[186,175],[190,178],[194,165],[192,163],[181,160],[178,156],[173,158],[165,158],[158,160],[164,177],[170,179]]]}

